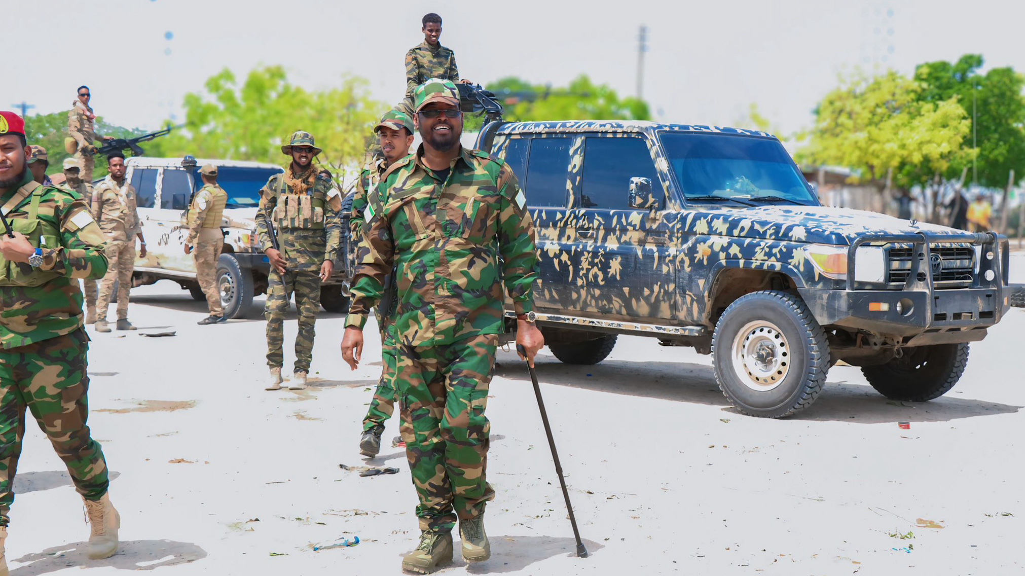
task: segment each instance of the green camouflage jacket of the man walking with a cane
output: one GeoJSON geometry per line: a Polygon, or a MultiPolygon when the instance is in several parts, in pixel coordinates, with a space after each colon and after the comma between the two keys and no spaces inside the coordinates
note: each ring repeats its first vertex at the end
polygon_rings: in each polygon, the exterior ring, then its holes
{"type": "Polygon", "coordinates": [[[446,181],[422,148],[396,162],[368,204],[345,326],[363,328],[397,271],[395,330],[407,345],[502,331],[502,283],[519,314],[534,307],[534,227],[512,170],[461,149],[446,181]]]}

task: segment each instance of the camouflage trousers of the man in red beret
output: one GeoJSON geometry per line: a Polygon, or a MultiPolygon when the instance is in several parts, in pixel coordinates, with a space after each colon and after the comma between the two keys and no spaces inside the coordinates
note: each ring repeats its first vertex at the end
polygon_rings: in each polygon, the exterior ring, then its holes
{"type": "Polygon", "coordinates": [[[88,500],[107,493],[107,460],[89,436],[84,330],[0,352],[0,526],[14,501],[13,483],[28,408],[88,500]]]}

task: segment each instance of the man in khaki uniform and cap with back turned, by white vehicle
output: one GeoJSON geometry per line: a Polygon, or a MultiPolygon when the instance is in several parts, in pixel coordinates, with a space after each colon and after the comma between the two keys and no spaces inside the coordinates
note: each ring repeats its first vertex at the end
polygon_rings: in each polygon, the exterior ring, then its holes
{"type": "Polygon", "coordinates": [[[228,193],[217,186],[217,167],[206,164],[199,171],[203,188],[196,193],[189,206],[189,236],[186,238],[186,254],[192,253],[196,259],[196,280],[206,294],[206,305],[210,316],[197,322],[199,325],[224,322],[220,307],[220,290],[217,288],[217,259],[224,244],[220,232],[220,218],[224,215],[228,193]]]}

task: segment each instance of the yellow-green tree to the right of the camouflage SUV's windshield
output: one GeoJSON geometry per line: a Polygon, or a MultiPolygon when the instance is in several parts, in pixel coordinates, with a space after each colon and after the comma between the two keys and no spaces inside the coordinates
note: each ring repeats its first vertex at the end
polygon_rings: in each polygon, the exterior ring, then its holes
{"type": "Polygon", "coordinates": [[[971,122],[957,97],[920,97],[920,83],[897,72],[840,80],[815,110],[815,125],[798,161],[852,168],[855,182],[886,195],[893,186],[924,183],[936,172],[974,155],[965,145],[971,122]]]}

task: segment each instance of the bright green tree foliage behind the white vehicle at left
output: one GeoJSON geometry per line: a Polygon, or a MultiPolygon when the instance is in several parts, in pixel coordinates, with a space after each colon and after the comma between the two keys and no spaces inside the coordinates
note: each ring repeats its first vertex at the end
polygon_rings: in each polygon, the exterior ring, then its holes
{"type": "Polygon", "coordinates": [[[362,78],[345,77],[340,86],[311,91],[291,84],[276,66],[251,71],[241,84],[225,69],[210,77],[205,88],[186,95],[183,129],[151,142],[151,156],[285,164],[281,146],[292,132],[305,130],[324,151],[318,163],[344,186],[358,172],[371,127],[387,110],[369,97],[362,78]]]}

